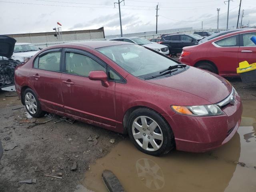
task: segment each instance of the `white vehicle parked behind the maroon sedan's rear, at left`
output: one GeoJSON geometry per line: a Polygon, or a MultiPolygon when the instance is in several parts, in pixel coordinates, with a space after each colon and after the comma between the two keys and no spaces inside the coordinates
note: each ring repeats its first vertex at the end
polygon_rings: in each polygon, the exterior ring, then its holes
{"type": "Polygon", "coordinates": [[[19,62],[26,62],[38,51],[40,51],[40,49],[30,43],[16,43],[12,59],[19,62]]]}

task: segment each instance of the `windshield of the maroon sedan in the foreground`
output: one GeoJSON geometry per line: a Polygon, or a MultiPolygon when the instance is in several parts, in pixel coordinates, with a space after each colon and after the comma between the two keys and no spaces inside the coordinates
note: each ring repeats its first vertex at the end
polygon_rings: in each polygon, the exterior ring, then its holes
{"type": "Polygon", "coordinates": [[[161,54],[136,44],[109,46],[97,50],[130,74],[142,79],[159,74],[160,71],[177,64],[161,54]]]}

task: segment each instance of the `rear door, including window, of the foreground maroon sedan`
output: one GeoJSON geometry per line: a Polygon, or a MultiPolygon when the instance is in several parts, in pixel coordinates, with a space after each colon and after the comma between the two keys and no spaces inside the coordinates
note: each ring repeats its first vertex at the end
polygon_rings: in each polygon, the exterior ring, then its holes
{"type": "Polygon", "coordinates": [[[60,62],[62,49],[50,49],[42,52],[35,60],[30,71],[30,81],[38,94],[38,99],[46,107],[63,111],[62,90],[60,84],[60,62]]]}

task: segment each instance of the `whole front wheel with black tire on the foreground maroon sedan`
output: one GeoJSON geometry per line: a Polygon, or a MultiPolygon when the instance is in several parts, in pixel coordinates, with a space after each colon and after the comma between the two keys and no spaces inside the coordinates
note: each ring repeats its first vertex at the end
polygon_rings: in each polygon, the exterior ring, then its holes
{"type": "Polygon", "coordinates": [[[134,110],[129,117],[128,134],[138,150],[153,156],[174,148],[174,134],[164,118],[149,108],[134,110]]]}

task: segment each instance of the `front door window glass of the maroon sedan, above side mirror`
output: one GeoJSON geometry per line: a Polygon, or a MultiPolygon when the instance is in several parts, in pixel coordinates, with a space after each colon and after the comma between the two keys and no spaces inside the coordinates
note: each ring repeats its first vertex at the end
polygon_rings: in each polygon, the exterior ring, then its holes
{"type": "Polygon", "coordinates": [[[66,73],[89,76],[91,71],[104,71],[106,69],[92,58],[73,52],[66,52],[66,73]]]}

